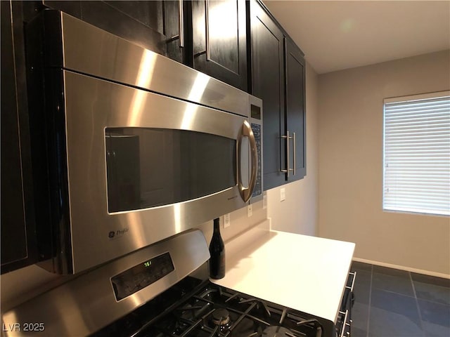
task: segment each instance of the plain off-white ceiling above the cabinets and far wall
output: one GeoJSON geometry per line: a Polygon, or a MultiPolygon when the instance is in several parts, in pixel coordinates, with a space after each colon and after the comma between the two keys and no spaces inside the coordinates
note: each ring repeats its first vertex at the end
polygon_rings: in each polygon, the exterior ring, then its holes
{"type": "Polygon", "coordinates": [[[450,49],[450,0],[263,1],[319,74],[450,49]]]}

